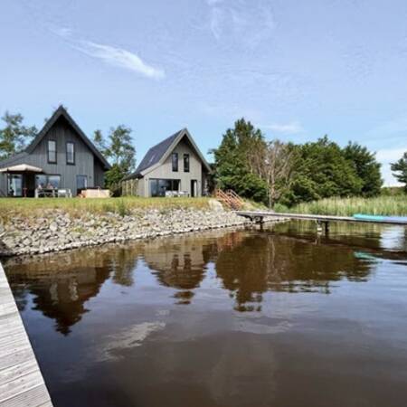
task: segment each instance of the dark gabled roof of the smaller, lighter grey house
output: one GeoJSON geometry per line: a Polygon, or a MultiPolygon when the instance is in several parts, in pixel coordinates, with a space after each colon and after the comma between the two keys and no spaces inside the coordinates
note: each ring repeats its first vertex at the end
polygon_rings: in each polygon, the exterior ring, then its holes
{"type": "Polygon", "coordinates": [[[204,156],[202,155],[201,151],[199,151],[199,148],[196,146],[194,139],[190,135],[188,129],[183,128],[182,130],[177,131],[172,136],[167,137],[165,140],[156,144],[156,146],[151,147],[147,151],[146,156],[143,157],[140,164],[137,166],[136,171],[128,175],[125,179],[143,176],[147,172],[156,168],[157,166],[161,166],[166,161],[166,158],[171,154],[174,148],[184,137],[188,138],[189,142],[194,148],[196,155],[199,156],[206,170],[211,171],[211,167],[204,159],[204,156]]]}

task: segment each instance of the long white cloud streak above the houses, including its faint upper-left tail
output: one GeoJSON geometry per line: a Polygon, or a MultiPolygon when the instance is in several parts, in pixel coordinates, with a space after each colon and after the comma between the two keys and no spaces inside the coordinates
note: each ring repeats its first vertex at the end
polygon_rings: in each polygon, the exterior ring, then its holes
{"type": "Polygon", "coordinates": [[[163,69],[148,64],[136,53],[124,48],[74,38],[73,31],[69,27],[52,27],[51,31],[61,37],[75,50],[109,65],[137,72],[151,79],[160,80],[166,77],[166,72],[163,69]]]}

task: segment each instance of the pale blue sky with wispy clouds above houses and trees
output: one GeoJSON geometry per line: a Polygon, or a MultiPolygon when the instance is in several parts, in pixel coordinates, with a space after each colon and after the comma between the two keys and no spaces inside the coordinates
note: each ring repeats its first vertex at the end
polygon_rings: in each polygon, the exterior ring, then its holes
{"type": "Polygon", "coordinates": [[[270,139],[360,142],[394,185],[406,21],[397,0],[5,0],[0,113],[41,127],[62,103],[89,136],[126,124],[137,162],[184,127],[206,153],[244,117],[270,139]]]}

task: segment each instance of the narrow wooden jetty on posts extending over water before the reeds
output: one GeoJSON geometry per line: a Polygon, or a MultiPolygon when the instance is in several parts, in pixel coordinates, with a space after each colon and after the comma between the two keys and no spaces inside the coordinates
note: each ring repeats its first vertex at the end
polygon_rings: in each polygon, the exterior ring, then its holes
{"type": "Polygon", "coordinates": [[[354,222],[354,223],[380,223],[407,226],[407,221],[383,217],[383,220],[373,220],[367,218],[355,218],[352,216],[333,216],[333,215],[314,215],[305,213],[276,213],[268,211],[234,211],[234,213],[251,219],[252,222],[262,223],[264,218],[285,218],[298,219],[301,221],[317,222],[318,231],[322,231],[325,227],[325,232],[329,232],[329,222],[354,222]]]}

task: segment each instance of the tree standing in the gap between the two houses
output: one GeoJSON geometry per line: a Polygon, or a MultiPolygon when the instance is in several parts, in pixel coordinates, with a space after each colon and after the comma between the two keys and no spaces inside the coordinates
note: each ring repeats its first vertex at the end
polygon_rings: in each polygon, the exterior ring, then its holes
{"type": "Polygon", "coordinates": [[[111,164],[111,169],[107,171],[105,177],[108,188],[118,185],[136,166],[136,149],[132,145],[130,134],[131,128],[123,125],[110,128],[107,138],[103,137],[100,130],[94,132],[94,143],[111,164]]]}

